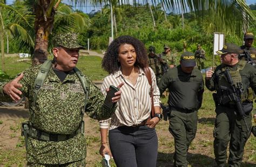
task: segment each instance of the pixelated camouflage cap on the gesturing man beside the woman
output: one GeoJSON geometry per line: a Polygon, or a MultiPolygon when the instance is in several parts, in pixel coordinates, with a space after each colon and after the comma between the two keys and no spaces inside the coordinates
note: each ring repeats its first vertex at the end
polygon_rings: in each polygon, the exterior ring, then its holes
{"type": "Polygon", "coordinates": [[[53,46],[66,47],[66,48],[82,48],[83,46],[78,44],[78,34],[77,33],[58,33],[52,38],[53,46]]]}

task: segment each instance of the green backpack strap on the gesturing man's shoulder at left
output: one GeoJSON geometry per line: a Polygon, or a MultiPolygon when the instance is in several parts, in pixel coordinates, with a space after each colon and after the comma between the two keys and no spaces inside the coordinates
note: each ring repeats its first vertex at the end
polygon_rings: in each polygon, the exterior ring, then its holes
{"type": "Polygon", "coordinates": [[[34,94],[33,94],[33,105],[32,105],[32,117],[31,117],[31,123],[33,123],[33,121],[35,120],[35,109],[36,109],[36,99],[37,99],[37,93],[39,91],[39,89],[43,86],[44,84],[44,80],[46,78],[46,76],[48,75],[49,69],[52,66],[52,60],[46,60],[42,66],[39,69],[39,72],[37,74],[37,78],[34,82],[34,94]]]}

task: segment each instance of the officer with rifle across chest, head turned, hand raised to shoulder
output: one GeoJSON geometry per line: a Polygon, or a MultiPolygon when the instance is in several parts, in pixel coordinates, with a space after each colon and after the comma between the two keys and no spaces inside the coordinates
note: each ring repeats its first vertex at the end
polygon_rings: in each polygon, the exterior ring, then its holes
{"type": "Polygon", "coordinates": [[[218,166],[225,166],[227,159],[227,145],[230,142],[229,166],[240,166],[244,154],[245,143],[250,137],[252,126],[252,100],[253,91],[256,91],[256,69],[244,60],[238,59],[240,48],[232,43],[227,43],[222,50],[216,53],[221,55],[222,64],[215,71],[206,72],[206,87],[210,91],[217,91],[215,94],[215,126],[214,155],[218,166]],[[228,69],[234,84],[242,85],[241,96],[239,97],[244,106],[245,121],[238,113],[234,100],[232,100],[230,83],[226,79],[224,71],[228,69]],[[252,91],[253,90],[253,91],[252,91]],[[246,123],[245,123],[246,122],[246,123]],[[247,124],[247,126],[246,126],[247,124]],[[248,127],[248,129],[247,129],[248,127]]]}

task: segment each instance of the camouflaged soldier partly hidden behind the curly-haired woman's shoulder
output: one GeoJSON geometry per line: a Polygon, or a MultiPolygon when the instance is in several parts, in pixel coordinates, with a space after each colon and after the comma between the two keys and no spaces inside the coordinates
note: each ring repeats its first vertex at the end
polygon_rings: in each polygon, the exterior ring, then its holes
{"type": "Polygon", "coordinates": [[[153,69],[154,74],[156,74],[157,85],[160,81],[161,77],[163,76],[163,69],[161,65],[163,64],[163,60],[158,57],[156,54],[156,48],[154,46],[149,47],[149,66],[153,69]]]}

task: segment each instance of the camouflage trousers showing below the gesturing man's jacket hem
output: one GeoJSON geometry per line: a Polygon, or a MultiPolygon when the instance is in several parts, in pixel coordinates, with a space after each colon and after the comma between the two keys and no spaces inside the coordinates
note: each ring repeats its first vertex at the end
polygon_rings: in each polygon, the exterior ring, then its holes
{"type": "Polygon", "coordinates": [[[75,162],[70,162],[70,163],[66,163],[66,164],[37,164],[37,163],[31,163],[28,162],[26,164],[26,166],[32,167],[32,166],[36,166],[36,167],[66,167],[66,166],[85,166],[86,162],[85,159],[82,159],[80,161],[75,161],[75,162]]]}

